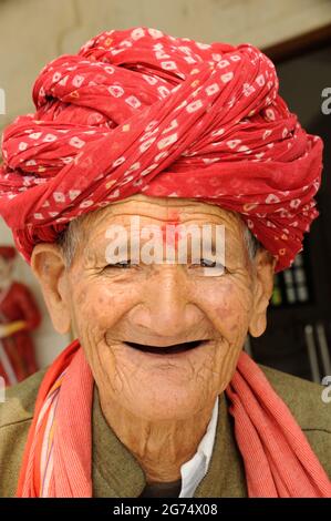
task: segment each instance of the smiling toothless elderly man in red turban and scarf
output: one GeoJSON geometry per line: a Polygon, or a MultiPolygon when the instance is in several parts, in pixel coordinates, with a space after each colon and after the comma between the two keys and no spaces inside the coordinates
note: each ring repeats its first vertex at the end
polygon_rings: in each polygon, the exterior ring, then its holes
{"type": "Polygon", "coordinates": [[[2,496],[330,497],[321,388],[242,351],[318,215],[322,142],[270,60],[110,31],[33,100],[4,132],[0,212],[76,339],[1,406],[2,496]],[[200,258],[168,262],[192,225],[217,254],[194,233],[200,258]]]}

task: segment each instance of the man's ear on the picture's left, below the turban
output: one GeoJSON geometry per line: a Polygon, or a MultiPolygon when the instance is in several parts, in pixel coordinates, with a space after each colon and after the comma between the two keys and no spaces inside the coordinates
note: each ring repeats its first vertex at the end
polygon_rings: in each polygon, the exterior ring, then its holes
{"type": "Polygon", "coordinates": [[[56,244],[40,243],[32,252],[31,268],[37,276],[53,326],[58,333],[69,333],[71,326],[69,282],[65,263],[56,244]]]}

